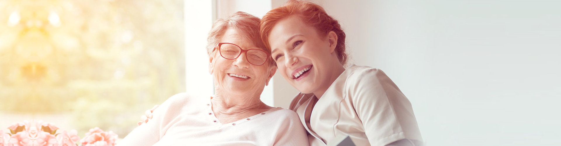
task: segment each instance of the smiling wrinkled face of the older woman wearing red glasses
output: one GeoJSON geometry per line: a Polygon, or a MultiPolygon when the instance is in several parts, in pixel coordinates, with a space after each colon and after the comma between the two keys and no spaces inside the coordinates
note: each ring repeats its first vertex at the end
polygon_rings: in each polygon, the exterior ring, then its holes
{"type": "MultiPolygon", "coordinates": [[[[256,48],[251,41],[232,28],[226,30],[220,38],[220,43],[236,44],[241,49],[264,50],[256,48]]],[[[245,52],[234,60],[228,60],[220,56],[218,51],[216,48],[214,54],[211,54],[213,56],[210,57],[209,72],[214,76],[215,88],[225,94],[260,94],[276,71],[276,67],[270,66],[268,62],[260,66],[252,65],[247,61],[245,52]]]]}

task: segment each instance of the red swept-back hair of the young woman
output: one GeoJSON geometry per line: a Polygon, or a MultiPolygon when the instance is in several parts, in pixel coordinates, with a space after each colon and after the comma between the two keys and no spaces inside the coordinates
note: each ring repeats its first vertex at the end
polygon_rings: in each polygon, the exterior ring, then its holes
{"type": "Polygon", "coordinates": [[[263,16],[260,24],[260,34],[265,47],[270,48],[269,33],[274,25],[277,24],[278,21],[292,15],[300,18],[306,25],[315,28],[318,31],[318,35],[322,38],[327,37],[329,31],[334,31],[335,34],[337,34],[337,46],[335,47],[337,58],[339,58],[339,62],[341,62],[342,65],[347,63],[345,33],[343,29],[341,29],[341,25],[337,20],[333,19],[333,17],[327,15],[323,7],[307,1],[288,1],[284,3],[283,6],[274,8],[263,16]]]}

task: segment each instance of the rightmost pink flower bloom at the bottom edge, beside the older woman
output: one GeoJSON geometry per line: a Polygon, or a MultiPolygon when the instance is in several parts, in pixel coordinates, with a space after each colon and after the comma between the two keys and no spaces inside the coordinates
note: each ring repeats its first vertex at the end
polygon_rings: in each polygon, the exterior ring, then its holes
{"type": "Polygon", "coordinates": [[[90,129],[86,136],[80,140],[80,143],[85,146],[105,146],[105,145],[115,145],[118,135],[114,134],[113,131],[104,132],[95,127],[90,129]]]}

